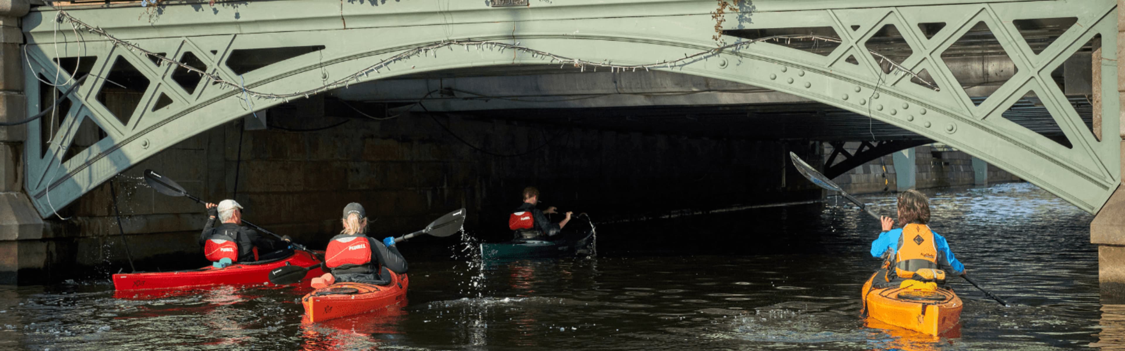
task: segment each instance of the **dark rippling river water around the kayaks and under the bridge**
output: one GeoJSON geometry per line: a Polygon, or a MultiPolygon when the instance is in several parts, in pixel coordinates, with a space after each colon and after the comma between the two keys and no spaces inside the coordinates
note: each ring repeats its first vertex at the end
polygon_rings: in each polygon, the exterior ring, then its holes
{"type": "MultiPolygon", "coordinates": [[[[591,258],[480,262],[451,244],[456,258],[407,256],[405,306],[316,324],[302,323],[307,291],[292,287],[127,299],[108,277],[3,287],[0,349],[1125,349],[1125,307],[1099,300],[1091,215],[1028,183],[927,192],[934,231],[1011,305],[954,281],[962,323],[940,338],[865,326],[879,224],[829,198],[602,223],[591,258]]],[[[893,209],[892,195],[861,198],[893,209]]]]}

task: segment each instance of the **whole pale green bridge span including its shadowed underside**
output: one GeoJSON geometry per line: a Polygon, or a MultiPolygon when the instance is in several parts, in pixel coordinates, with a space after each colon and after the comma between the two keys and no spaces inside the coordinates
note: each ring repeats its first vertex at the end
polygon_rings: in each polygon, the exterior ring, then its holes
{"type": "Polygon", "coordinates": [[[58,119],[28,127],[25,187],[45,217],[202,130],[325,93],[392,115],[423,101],[606,129],[933,140],[1091,213],[1118,187],[1119,123],[1098,117],[1119,112],[1116,1],[847,2],[742,2],[720,16],[722,35],[708,1],[460,2],[436,12],[435,1],[250,2],[164,6],[137,22],[120,19],[151,10],[39,8],[24,20],[27,114],[71,92],[58,119]],[[1066,74],[1083,60],[1084,92],[1071,81],[1080,74],[1066,74]],[[556,84],[504,84],[529,74],[537,80],[521,81],[556,84]],[[490,82],[454,83],[474,79],[490,82]],[[646,92],[659,88],[646,80],[688,83],[676,96],[646,92]],[[529,91],[539,92],[521,96],[529,91]]]}

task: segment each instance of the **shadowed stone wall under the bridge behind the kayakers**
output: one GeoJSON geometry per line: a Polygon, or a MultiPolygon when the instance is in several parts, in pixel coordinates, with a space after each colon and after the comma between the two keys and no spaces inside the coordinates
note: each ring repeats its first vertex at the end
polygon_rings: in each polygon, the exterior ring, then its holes
{"type": "MultiPolygon", "coordinates": [[[[317,116],[322,108],[313,102],[271,110],[267,115],[274,127],[269,129],[243,130],[243,122],[236,122],[207,130],[115,178],[137,269],[206,263],[196,244],[205,223],[202,206],[154,192],[143,184],[145,169],[209,201],[233,196],[245,206],[246,220],[310,248],[323,248],[340,231],[338,218],[350,201],[363,204],[375,219],[372,236],[417,231],[465,207],[466,230],[495,240],[510,235],[507,212],[521,202],[526,186],[539,187],[544,205],[585,212],[595,219],[808,200],[821,194],[788,163],[789,151],[803,156],[816,152],[807,142],[712,140],[425,114],[345,119],[317,116]],[[317,129],[343,120],[323,130],[277,128],[317,129]]],[[[71,219],[48,219],[55,245],[48,267],[76,264],[93,276],[127,270],[109,187],[102,184],[62,209],[71,219]]],[[[418,246],[424,245],[404,250],[418,246]]],[[[48,279],[66,273],[45,271],[48,279]]]]}

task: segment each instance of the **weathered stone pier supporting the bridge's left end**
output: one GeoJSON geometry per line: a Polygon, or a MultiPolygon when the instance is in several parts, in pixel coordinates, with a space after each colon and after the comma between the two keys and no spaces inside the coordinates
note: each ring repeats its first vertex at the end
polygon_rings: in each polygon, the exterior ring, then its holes
{"type": "MultiPolygon", "coordinates": [[[[27,115],[19,17],[27,15],[28,7],[27,0],[0,1],[0,122],[27,115]]],[[[26,125],[0,127],[0,284],[16,284],[17,272],[36,261],[29,254],[42,258],[42,252],[32,248],[42,243],[21,243],[43,237],[43,219],[24,192],[25,140],[26,125]]]]}

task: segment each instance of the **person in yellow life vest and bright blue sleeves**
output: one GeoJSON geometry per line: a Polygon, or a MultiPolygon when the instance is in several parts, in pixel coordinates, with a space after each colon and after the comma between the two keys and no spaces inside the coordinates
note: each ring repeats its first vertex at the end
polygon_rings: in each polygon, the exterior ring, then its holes
{"type": "MultiPolygon", "coordinates": [[[[928,280],[916,277],[926,269],[939,269],[954,276],[965,273],[965,266],[950,251],[945,237],[934,233],[929,223],[929,201],[918,190],[907,190],[898,196],[898,224],[893,228],[891,217],[883,217],[883,232],[871,243],[871,255],[886,262],[874,279],[876,286],[898,285],[906,279],[928,280]],[[893,230],[892,230],[893,228],[893,230]]],[[[926,270],[929,276],[929,270],[926,270]]],[[[944,274],[943,274],[944,276],[944,274]]]]}

